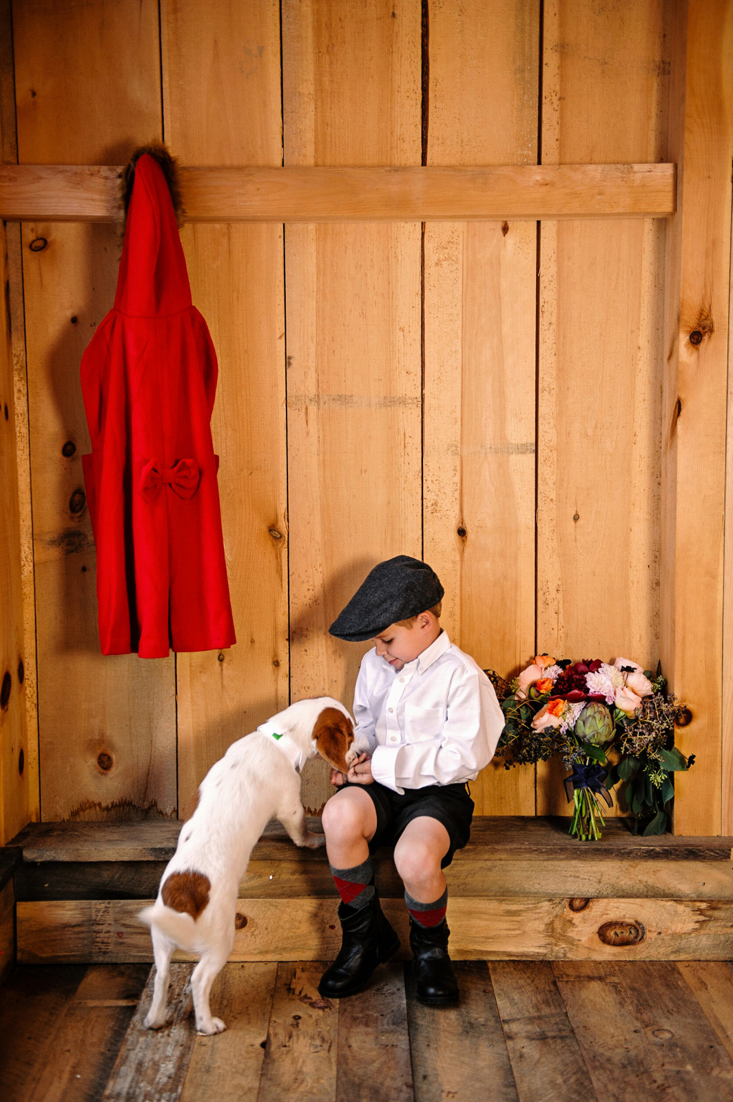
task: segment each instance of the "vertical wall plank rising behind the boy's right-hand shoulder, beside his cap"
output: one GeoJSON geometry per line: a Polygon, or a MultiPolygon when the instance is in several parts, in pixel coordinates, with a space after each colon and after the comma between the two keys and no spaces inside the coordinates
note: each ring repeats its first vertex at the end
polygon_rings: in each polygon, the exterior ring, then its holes
{"type": "MultiPolygon", "coordinates": [[[[539,3],[429,4],[428,164],[535,164],[539,3]]],[[[535,647],[537,224],[424,227],[424,554],[444,627],[510,676],[535,647]]],[[[492,764],[477,814],[533,814],[492,764]]]]}

